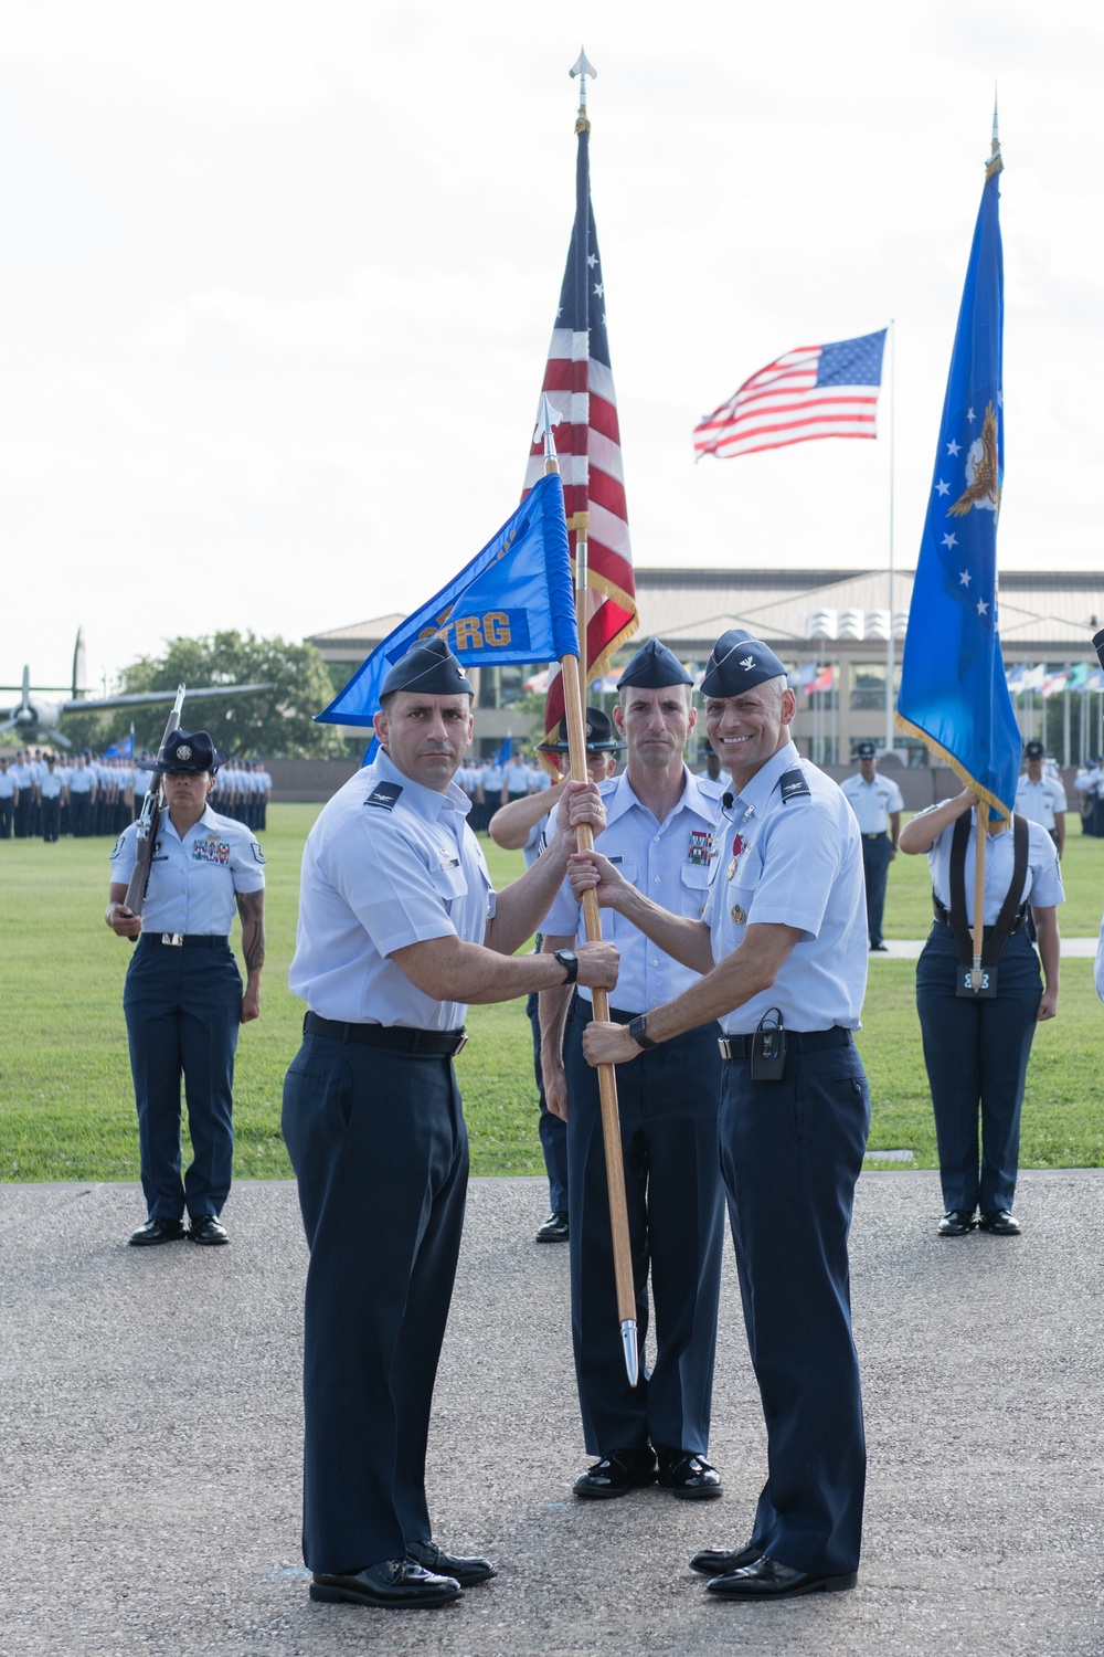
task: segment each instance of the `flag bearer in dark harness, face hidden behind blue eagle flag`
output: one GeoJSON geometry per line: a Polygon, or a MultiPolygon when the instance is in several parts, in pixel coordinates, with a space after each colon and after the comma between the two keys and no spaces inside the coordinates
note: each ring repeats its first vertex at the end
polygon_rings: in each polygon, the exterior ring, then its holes
{"type": "MultiPolygon", "coordinates": [[[[965,790],[919,812],[900,835],[900,850],[927,852],[932,870],[935,920],[917,963],[917,1012],[935,1112],[943,1238],[965,1236],[975,1225],[993,1236],[1020,1233],[1011,1211],[1020,1110],[1034,1027],[1058,1009],[1056,906],[1066,901],[1051,837],[1016,812],[1011,833],[1005,827],[985,847],[985,976],[982,994],[968,988],[977,804],[965,790]],[[1046,989],[1025,928],[1028,905],[1046,989]]],[[[988,805],[982,810],[988,814],[988,805]]]]}

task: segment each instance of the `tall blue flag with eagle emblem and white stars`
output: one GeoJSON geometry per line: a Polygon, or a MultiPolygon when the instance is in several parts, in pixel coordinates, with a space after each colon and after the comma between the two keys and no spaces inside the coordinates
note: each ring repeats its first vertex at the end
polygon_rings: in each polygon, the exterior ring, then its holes
{"type": "Polygon", "coordinates": [[[897,726],[978,799],[1011,817],[1021,739],[996,628],[996,522],[1005,482],[1000,146],[985,169],[935,471],[912,587],[897,726]]]}

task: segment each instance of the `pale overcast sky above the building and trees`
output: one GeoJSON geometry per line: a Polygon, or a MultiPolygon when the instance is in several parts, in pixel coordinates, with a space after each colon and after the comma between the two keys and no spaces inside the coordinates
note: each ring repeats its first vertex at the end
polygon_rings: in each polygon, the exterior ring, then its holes
{"type": "Polygon", "coordinates": [[[513,510],[579,41],[637,565],[889,562],[877,442],[694,466],[778,353],[895,318],[915,562],[1000,83],[1003,568],[1099,568],[1096,0],[7,0],[0,679],[410,610],[513,510]]]}

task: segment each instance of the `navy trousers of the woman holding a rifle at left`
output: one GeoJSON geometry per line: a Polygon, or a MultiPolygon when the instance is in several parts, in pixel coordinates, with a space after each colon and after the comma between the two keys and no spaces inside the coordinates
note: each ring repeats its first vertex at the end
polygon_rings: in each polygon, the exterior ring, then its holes
{"type": "Polygon", "coordinates": [[[233,1171],[233,1056],[242,978],[225,938],[167,946],[139,938],[122,991],[151,1218],[218,1215],[233,1171]],[[192,1163],[180,1178],[180,1077],[192,1163]]]}

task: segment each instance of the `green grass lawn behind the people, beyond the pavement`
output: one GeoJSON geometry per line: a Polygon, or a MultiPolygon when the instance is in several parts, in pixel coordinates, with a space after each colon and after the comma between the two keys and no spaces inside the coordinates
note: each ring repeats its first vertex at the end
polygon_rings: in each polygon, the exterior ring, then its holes
{"type": "MultiPolygon", "coordinates": [[[[280,1137],[283,1072],[300,1041],[303,1004],[288,991],[300,852],[316,805],[276,805],[268,858],[268,963],[262,1017],[242,1031],[235,1080],[238,1178],[288,1178],[280,1137]]],[[[137,1180],[137,1132],[122,1022],[131,946],[103,925],[109,840],[0,842],[3,921],[0,996],[0,1180],[137,1180]]],[[[497,885],[518,853],[487,843],[497,885]]],[[[1071,835],[1063,931],[1096,935],[1104,906],[1104,842],[1071,835]]],[[[886,935],[917,938],[930,923],[927,860],[899,857],[889,873],[886,935]]],[[[237,940],[235,940],[237,941],[237,940]]],[[[872,1148],[912,1150],[935,1167],[910,961],[871,968],[859,1046],[871,1077],[872,1148]]],[[[523,1002],[472,1007],[472,1041],[457,1060],[475,1173],[541,1173],[530,1026],[523,1002]]],[[[1059,1016],[1039,1029],[1023,1115],[1023,1167],[1101,1167],[1104,1125],[1096,1054],[1104,1007],[1092,963],[1066,961],[1059,1016]]]]}

